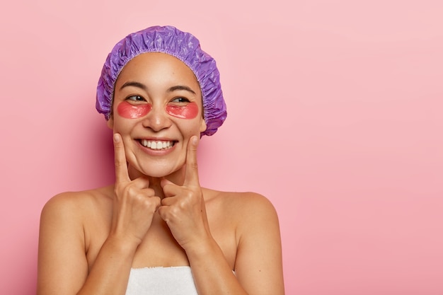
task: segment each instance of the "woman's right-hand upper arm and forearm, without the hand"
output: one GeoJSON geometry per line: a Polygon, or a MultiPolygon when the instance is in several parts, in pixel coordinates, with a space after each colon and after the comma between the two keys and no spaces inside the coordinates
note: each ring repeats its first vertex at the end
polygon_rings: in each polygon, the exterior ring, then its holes
{"type": "Polygon", "coordinates": [[[186,251],[199,294],[283,295],[280,228],[275,209],[265,197],[252,193],[238,197],[236,207],[241,219],[236,231],[235,274],[214,239],[186,251]]]}

